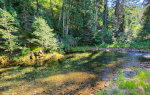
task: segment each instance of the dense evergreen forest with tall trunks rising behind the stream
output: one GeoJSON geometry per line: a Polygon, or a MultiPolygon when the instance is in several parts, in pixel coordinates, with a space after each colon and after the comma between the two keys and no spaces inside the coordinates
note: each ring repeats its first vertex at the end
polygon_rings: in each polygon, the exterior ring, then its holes
{"type": "Polygon", "coordinates": [[[0,51],[150,43],[150,0],[0,0],[0,51]]]}

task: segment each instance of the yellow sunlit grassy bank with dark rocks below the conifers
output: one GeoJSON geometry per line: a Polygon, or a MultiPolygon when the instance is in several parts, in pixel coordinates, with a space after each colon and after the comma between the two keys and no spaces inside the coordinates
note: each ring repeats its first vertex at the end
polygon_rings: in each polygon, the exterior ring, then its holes
{"type": "Polygon", "coordinates": [[[11,57],[0,56],[0,67],[9,66],[43,66],[47,63],[62,59],[64,55],[57,52],[40,53],[36,51],[25,56],[11,57]]]}

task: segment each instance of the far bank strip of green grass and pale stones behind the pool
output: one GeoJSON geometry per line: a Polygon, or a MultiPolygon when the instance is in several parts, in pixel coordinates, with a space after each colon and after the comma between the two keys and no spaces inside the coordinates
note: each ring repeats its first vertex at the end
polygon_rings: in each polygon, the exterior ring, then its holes
{"type": "Polygon", "coordinates": [[[123,51],[123,52],[139,52],[150,53],[150,42],[130,42],[130,43],[114,43],[101,44],[95,46],[77,46],[72,51],[123,51]]]}

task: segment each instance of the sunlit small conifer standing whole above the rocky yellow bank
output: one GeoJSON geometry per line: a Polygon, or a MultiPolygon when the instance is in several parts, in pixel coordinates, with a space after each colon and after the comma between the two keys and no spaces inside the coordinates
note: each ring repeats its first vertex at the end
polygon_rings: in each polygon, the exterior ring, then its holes
{"type": "Polygon", "coordinates": [[[43,18],[35,18],[32,27],[35,38],[31,39],[31,43],[43,47],[46,51],[57,49],[58,45],[57,40],[54,37],[55,35],[52,33],[53,29],[48,26],[47,22],[43,18]]]}

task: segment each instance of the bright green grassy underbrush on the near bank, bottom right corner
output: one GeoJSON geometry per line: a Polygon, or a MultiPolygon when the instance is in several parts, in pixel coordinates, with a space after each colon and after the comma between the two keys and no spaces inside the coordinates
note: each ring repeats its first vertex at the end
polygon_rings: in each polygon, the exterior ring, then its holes
{"type": "Polygon", "coordinates": [[[150,72],[135,70],[136,76],[126,79],[119,72],[116,81],[111,81],[108,88],[98,91],[97,95],[150,95],[150,72]]]}

